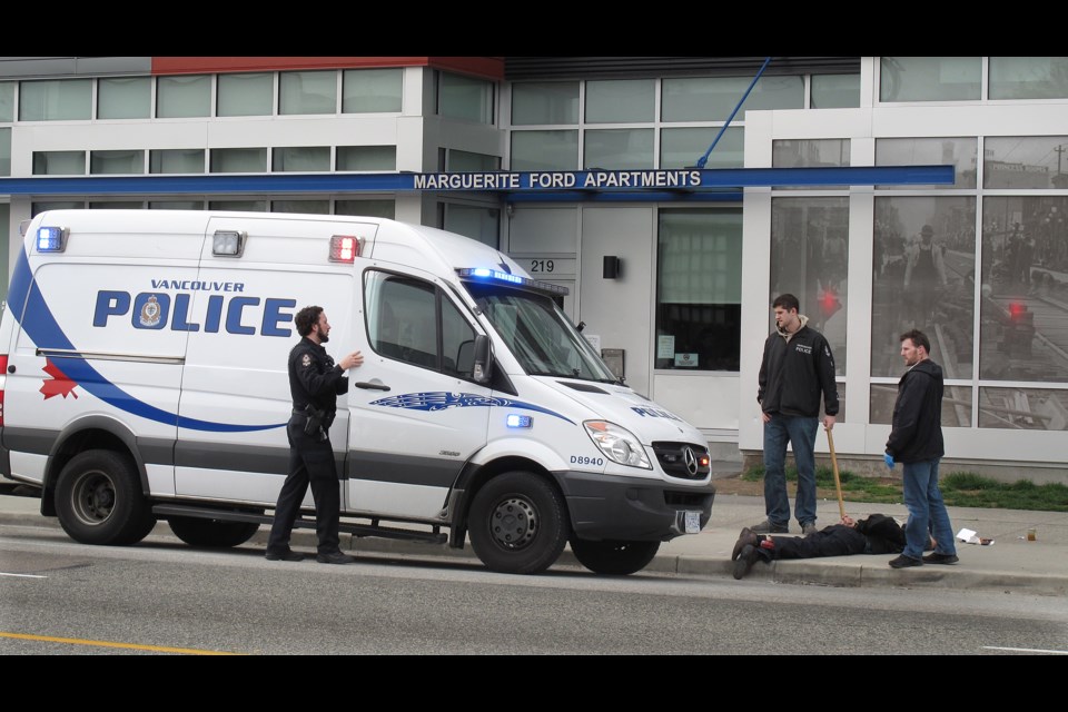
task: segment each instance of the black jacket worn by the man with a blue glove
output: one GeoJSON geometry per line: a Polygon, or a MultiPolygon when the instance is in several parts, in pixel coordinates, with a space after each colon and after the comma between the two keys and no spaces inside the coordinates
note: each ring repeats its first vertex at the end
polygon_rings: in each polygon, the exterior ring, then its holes
{"type": "Polygon", "coordinates": [[[887,452],[899,463],[934,459],[946,454],[942,442],[942,368],[921,360],[898,382],[893,429],[887,452]]]}

